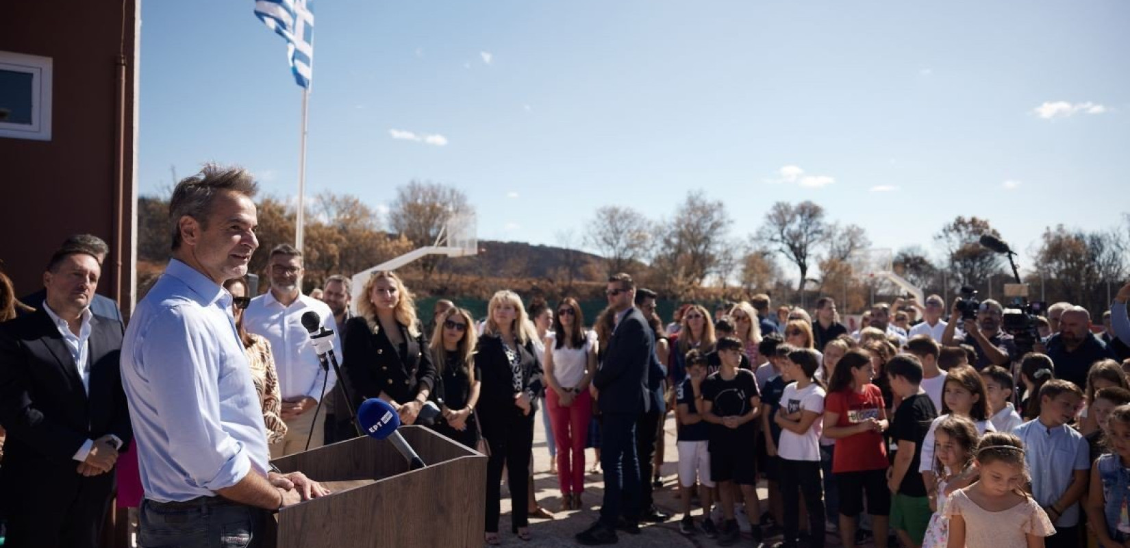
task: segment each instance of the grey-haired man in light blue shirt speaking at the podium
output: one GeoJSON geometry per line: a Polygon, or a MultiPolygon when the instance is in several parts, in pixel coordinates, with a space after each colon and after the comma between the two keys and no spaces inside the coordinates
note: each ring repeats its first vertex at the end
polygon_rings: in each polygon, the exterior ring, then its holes
{"type": "Polygon", "coordinates": [[[138,304],[122,382],[145,501],[139,545],[255,546],[269,511],[328,492],[269,471],[267,435],[225,280],[259,246],[257,184],[207,165],[169,202],[173,259],[138,304]]]}

